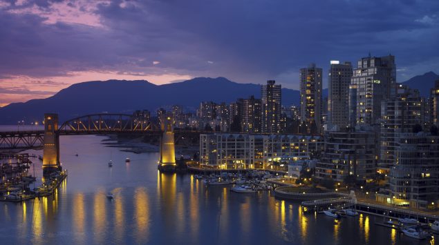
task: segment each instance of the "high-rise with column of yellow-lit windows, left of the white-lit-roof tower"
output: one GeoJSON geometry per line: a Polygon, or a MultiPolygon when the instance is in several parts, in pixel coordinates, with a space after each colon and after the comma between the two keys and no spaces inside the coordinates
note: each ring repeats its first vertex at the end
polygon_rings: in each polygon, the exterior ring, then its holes
{"type": "Polygon", "coordinates": [[[317,133],[321,131],[321,68],[315,63],[308,68],[300,69],[300,119],[308,125],[308,133],[311,133],[311,125],[315,124],[317,133]]]}

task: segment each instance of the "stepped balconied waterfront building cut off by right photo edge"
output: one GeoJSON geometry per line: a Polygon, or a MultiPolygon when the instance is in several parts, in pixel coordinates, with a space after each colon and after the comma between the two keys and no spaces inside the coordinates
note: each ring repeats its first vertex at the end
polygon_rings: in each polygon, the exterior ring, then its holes
{"type": "Polygon", "coordinates": [[[397,162],[389,173],[389,194],[380,202],[436,208],[439,197],[439,136],[430,133],[400,134],[397,162]]]}

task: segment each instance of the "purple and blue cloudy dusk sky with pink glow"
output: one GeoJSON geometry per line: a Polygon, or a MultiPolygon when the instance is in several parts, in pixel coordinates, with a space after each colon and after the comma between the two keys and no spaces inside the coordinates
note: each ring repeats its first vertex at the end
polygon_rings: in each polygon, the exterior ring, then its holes
{"type": "Polygon", "coordinates": [[[299,68],[395,55],[439,73],[439,1],[0,0],[0,106],[82,81],[227,77],[299,88],[299,68]]]}

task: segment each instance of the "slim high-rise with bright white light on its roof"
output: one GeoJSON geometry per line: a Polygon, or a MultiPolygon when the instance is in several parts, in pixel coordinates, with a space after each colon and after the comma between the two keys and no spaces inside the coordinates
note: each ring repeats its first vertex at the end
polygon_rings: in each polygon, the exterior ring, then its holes
{"type": "Polygon", "coordinates": [[[349,85],[352,78],[351,62],[330,61],[328,74],[328,129],[349,125],[349,85]]]}

